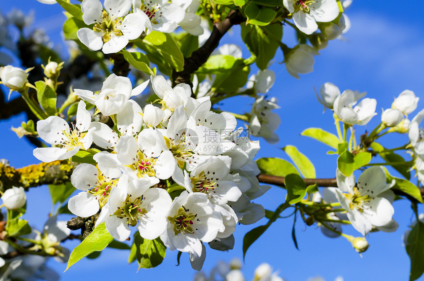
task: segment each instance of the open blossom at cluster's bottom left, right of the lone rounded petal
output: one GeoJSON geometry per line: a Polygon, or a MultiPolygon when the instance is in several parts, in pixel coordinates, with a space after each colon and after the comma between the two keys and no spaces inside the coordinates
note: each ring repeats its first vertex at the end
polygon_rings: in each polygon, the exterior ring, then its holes
{"type": "Polygon", "coordinates": [[[109,213],[105,218],[106,229],[113,238],[125,241],[130,236],[129,226],[137,226],[141,237],[148,240],[165,231],[172,200],[165,189],[150,188],[152,185],[146,178],[131,179],[126,175],[119,178],[105,209],[109,213]]]}

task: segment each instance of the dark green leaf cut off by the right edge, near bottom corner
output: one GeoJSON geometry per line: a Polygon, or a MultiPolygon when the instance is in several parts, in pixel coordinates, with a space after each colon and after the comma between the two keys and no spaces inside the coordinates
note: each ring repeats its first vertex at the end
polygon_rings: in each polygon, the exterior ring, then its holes
{"type": "Polygon", "coordinates": [[[417,280],[424,273],[424,223],[417,221],[412,227],[406,242],[406,252],[411,259],[409,280],[417,280]]]}

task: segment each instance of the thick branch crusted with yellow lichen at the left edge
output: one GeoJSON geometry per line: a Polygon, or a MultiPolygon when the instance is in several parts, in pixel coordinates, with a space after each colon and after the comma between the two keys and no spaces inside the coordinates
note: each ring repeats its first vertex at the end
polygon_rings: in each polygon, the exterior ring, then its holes
{"type": "Polygon", "coordinates": [[[39,163],[20,169],[0,163],[0,190],[12,186],[28,188],[42,184],[62,184],[70,180],[75,166],[68,160],[39,163]]]}

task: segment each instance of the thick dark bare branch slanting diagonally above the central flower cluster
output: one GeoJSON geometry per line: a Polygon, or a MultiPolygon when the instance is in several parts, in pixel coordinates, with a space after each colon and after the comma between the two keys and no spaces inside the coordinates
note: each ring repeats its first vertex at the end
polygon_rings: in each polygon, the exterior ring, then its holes
{"type": "Polygon", "coordinates": [[[184,70],[172,73],[173,86],[179,83],[186,83],[192,86],[191,74],[198,70],[218,46],[219,40],[233,26],[246,21],[246,18],[239,10],[232,10],[222,22],[213,24],[212,33],[205,44],[194,51],[190,57],[184,59],[184,70]]]}

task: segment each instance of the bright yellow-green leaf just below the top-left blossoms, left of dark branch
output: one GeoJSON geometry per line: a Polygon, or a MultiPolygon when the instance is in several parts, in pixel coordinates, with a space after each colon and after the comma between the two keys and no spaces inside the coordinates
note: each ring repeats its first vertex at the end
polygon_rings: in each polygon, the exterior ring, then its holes
{"type": "Polygon", "coordinates": [[[158,66],[161,72],[170,76],[173,70],[183,70],[184,56],[172,35],[152,31],[144,37],[139,46],[146,52],[149,60],[158,66]]]}

